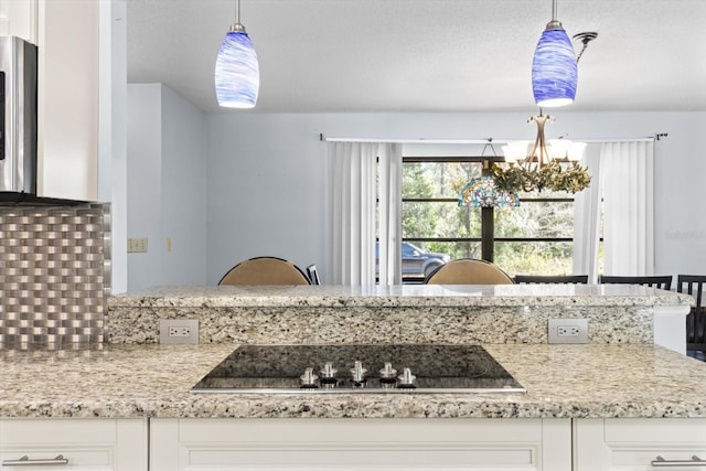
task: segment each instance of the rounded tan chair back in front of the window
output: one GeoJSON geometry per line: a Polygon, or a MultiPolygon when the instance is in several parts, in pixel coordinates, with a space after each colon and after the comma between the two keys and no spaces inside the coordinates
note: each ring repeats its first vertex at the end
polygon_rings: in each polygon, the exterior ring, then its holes
{"type": "Polygon", "coordinates": [[[513,285],[498,265],[475,258],[447,261],[429,274],[425,285],[513,285]]]}

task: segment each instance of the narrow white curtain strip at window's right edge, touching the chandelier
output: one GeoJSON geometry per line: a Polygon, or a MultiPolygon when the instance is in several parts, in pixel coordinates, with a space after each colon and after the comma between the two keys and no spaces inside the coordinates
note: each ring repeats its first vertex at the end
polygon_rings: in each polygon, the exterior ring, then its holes
{"type": "Polygon", "coordinates": [[[588,282],[598,276],[600,242],[600,144],[588,144],[581,165],[591,176],[591,184],[574,199],[574,274],[588,275],[588,282]]]}

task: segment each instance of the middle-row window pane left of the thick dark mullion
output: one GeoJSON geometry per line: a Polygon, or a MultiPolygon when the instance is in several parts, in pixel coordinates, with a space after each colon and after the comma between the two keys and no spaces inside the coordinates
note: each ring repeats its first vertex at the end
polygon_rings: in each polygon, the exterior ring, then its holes
{"type": "Polygon", "coordinates": [[[453,202],[403,202],[402,236],[480,237],[481,210],[453,202]]]}

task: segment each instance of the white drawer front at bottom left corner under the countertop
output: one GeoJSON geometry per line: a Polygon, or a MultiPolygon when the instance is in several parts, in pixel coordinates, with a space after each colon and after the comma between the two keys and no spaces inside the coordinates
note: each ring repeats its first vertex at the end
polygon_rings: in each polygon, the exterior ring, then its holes
{"type": "Polygon", "coordinates": [[[147,419],[0,419],[2,470],[147,471],[147,419]]]}

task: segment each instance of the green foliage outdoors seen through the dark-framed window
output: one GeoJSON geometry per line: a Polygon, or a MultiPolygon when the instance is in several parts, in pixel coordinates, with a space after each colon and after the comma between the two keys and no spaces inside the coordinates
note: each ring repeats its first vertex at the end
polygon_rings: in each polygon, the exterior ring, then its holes
{"type": "MultiPolygon", "coordinates": [[[[403,164],[403,199],[457,199],[480,162],[416,162],[403,164]]],[[[521,206],[494,210],[495,237],[571,237],[573,202],[532,202],[531,196],[570,197],[564,193],[521,194],[521,206]]],[[[481,258],[481,208],[459,207],[456,201],[404,202],[403,237],[469,238],[463,242],[415,242],[427,251],[451,258],[481,258]],[[474,240],[473,240],[474,239],[474,240]]],[[[570,242],[496,242],[495,264],[511,276],[571,274],[570,242]]]]}

